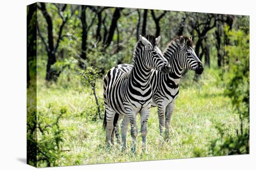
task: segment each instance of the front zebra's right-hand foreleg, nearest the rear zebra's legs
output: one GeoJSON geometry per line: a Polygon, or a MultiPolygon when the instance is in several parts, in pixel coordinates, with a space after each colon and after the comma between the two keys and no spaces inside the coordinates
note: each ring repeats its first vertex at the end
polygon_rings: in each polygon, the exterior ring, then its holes
{"type": "Polygon", "coordinates": [[[147,124],[148,124],[148,117],[149,117],[149,110],[143,110],[141,111],[141,136],[142,136],[142,150],[146,151],[147,147],[147,124]]]}

